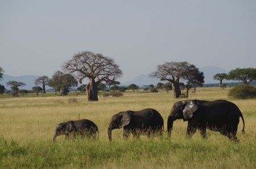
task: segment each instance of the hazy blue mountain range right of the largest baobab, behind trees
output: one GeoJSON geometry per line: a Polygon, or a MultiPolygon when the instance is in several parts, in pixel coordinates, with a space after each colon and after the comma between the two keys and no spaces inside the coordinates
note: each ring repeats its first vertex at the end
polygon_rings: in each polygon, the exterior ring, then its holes
{"type": "MultiPolygon", "coordinates": [[[[217,73],[228,73],[228,71],[221,69],[217,66],[205,66],[200,67],[200,71],[204,72],[204,82],[205,83],[218,83],[218,81],[213,80],[213,75],[217,73]]],[[[151,78],[148,76],[148,74],[140,74],[137,77],[131,79],[130,81],[127,81],[125,83],[122,83],[121,85],[129,85],[131,83],[137,84],[138,86],[148,85],[148,84],[154,84],[156,85],[158,82],[166,83],[166,81],[160,81],[157,78],[151,78]]],[[[182,81],[180,81],[182,82],[182,81]]]]}

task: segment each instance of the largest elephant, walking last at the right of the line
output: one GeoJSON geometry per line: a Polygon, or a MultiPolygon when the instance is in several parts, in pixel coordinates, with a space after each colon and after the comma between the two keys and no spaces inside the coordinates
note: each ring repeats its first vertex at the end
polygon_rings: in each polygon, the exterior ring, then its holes
{"type": "Polygon", "coordinates": [[[206,129],[220,132],[230,140],[239,141],[236,137],[239,118],[242,118],[245,132],[245,121],[236,104],[226,100],[184,100],[176,102],[168,117],[167,131],[171,135],[172,125],[176,119],[188,121],[187,136],[192,137],[196,129],[205,138],[206,129]]]}

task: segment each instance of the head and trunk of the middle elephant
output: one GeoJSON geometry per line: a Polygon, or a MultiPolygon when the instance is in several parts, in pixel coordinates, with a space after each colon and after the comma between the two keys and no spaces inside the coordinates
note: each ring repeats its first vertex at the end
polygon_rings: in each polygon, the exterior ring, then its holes
{"type": "Polygon", "coordinates": [[[112,116],[112,119],[109,122],[108,127],[108,136],[109,141],[112,140],[112,130],[113,129],[120,129],[123,126],[126,126],[129,124],[131,120],[131,116],[129,115],[129,112],[120,112],[112,116]]]}

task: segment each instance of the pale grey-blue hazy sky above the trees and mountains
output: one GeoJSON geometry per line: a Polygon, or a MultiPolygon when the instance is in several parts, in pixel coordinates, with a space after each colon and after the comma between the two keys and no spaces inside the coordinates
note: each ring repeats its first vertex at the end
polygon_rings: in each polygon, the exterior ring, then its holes
{"type": "Polygon", "coordinates": [[[122,82],[165,61],[256,65],[256,1],[2,1],[0,66],[51,76],[73,54],[115,59],[122,82]]]}

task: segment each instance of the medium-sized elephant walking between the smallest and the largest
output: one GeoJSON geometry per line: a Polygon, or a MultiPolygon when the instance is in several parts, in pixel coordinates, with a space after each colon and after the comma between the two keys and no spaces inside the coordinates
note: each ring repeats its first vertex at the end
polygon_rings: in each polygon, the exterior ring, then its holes
{"type": "Polygon", "coordinates": [[[112,130],[123,128],[123,138],[129,137],[130,133],[135,138],[140,134],[150,137],[156,133],[163,133],[163,117],[152,108],[141,111],[125,111],[112,116],[108,127],[109,141],[112,140],[112,130]]]}

